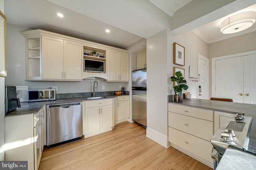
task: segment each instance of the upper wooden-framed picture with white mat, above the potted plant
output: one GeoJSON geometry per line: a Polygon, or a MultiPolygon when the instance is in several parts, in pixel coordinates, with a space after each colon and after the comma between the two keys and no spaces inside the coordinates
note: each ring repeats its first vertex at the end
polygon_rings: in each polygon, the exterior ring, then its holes
{"type": "Polygon", "coordinates": [[[185,66],[185,47],[173,43],[173,64],[185,66]]]}

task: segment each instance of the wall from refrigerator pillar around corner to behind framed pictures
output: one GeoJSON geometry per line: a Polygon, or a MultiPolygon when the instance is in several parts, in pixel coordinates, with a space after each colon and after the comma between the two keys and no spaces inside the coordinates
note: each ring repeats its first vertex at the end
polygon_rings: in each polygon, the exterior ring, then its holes
{"type": "Polygon", "coordinates": [[[192,98],[197,98],[198,87],[189,81],[189,66],[198,67],[198,54],[207,57],[208,45],[192,31],[176,35],[164,30],[147,39],[147,137],[168,147],[167,96],[174,94],[173,67],[185,68],[185,80],[192,98]],[[185,47],[185,66],[173,64],[173,43],[185,47]]]}

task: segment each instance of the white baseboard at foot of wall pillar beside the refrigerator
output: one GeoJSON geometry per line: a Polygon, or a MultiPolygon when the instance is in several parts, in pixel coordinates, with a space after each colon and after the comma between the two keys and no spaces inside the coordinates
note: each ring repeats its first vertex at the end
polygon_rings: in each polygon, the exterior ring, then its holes
{"type": "Polygon", "coordinates": [[[166,135],[147,127],[146,137],[152,139],[153,141],[162,145],[163,147],[168,148],[168,137],[166,135]]]}

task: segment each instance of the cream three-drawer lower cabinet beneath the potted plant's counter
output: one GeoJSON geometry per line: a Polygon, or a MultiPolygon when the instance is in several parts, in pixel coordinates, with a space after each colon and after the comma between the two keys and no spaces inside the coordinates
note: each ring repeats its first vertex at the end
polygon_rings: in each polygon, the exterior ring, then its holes
{"type": "Polygon", "coordinates": [[[182,152],[213,166],[213,110],[168,104],[168,141],[182,152]]]}

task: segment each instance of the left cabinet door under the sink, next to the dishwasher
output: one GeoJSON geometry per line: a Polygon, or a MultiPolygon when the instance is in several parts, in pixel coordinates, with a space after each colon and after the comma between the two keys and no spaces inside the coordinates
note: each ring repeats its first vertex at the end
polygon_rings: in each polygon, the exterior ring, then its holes
{"type": "Polygon", "coordinates": [[[85,109],[85,134],[100,131],[100,107],[85,109]]]}

